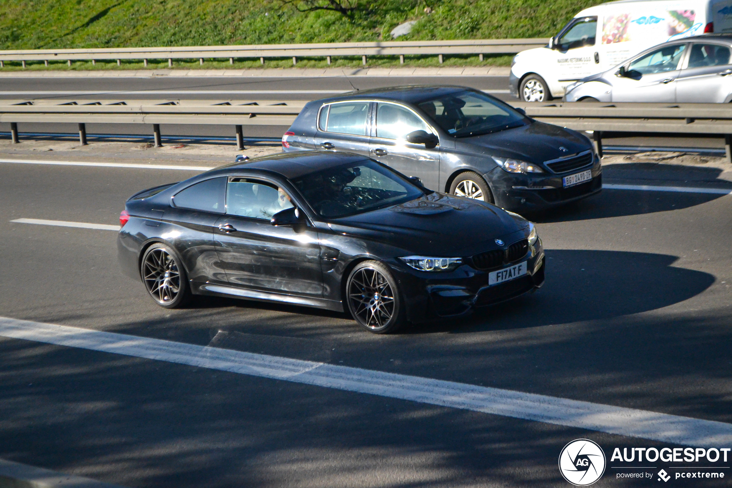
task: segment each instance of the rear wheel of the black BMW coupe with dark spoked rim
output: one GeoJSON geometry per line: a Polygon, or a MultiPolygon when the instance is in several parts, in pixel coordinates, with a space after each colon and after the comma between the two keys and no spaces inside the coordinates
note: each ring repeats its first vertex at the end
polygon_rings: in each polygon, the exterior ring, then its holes
{"type": "Polygon", "coordinates": [[[160,307],[180,308],[190,301],[188,277],[181,259],[165,244],[152,244],[145,250],[140,274],[148,295],[160,307]]]}

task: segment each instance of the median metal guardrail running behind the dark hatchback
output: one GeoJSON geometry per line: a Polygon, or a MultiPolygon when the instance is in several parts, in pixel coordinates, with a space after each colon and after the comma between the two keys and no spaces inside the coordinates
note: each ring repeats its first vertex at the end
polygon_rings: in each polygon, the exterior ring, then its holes
{"type": "MultiPolygon", "coordinates": [[[[86,126],[98,124],[152,124],[160,146],[160,124],[234,125],[243,149],[244,125],[288,126],[305,100],[0,100],[0,122],[10,122],[12,140],[18,142],[18,122],[79,124],[86,143],[86,126]]],[[[581,103],[510,102],[526,115],[569,129],[594,131],[597,152],[610,133],[665,136],[716,135],[725,139],[732,162],[732,108],[722,104],[686,103],[581,103]]]]}

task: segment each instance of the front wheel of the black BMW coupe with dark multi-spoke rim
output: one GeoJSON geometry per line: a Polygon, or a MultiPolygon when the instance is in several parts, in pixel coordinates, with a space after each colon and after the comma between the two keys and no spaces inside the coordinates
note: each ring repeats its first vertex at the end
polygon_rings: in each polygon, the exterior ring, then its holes
{"type": "Polygon", "coordinates": [[[391,334],[406,323],[397,280],[384,264],[368,260],[358,263],[346,282],[348,311],[373,334],[391,334]]]}

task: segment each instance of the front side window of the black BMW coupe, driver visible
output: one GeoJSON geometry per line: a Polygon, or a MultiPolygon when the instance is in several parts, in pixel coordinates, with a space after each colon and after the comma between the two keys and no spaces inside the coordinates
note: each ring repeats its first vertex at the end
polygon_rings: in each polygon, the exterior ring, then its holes
{"type": "Polygon", "coordinates": [[[226,189],[226,213],[269,220],[279,211],[291,209],[290,197],[275,185],[250,178],[231,178],[226,189]]]}

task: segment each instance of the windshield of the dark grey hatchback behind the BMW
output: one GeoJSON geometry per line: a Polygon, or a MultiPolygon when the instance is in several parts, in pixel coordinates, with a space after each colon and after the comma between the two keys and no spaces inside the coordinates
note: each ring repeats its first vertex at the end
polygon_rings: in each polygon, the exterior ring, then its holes
{"type": "Polygon", "coordinates": [[[527,122],[525,117],[477,91],[458,91],[419,103],[437,124],[455,138],[488,134],[527,122]]]}

